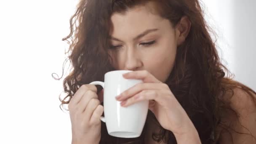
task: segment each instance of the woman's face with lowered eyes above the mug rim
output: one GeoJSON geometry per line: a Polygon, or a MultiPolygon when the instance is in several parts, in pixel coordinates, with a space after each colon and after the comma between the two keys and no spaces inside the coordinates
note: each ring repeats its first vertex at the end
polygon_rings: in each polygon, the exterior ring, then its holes
{"type": "Polygon", "coordinates": [[[177,36],[167,19],[139,6],[125,14],[113,13],[109,54],[118,70],[147,70],[165,82],[176,56],[177,36]]]}

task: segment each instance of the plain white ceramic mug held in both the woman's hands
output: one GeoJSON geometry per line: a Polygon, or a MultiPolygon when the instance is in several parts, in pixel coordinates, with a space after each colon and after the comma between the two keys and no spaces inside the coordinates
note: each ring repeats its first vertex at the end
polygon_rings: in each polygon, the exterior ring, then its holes
{"type": "Polygon", "coordinates": [[[130,70],[115,70],[104,75],[104,82],[94,81],[90,84],[101,85],[104,88],[104,116],[109,135],[121,138],[136,138],[144,128],[149,101],[140,101],[128,107],[122,107],[115,99],[123,91],[131,88],[142,80],[125,79],[122,74],[130,70]]]}

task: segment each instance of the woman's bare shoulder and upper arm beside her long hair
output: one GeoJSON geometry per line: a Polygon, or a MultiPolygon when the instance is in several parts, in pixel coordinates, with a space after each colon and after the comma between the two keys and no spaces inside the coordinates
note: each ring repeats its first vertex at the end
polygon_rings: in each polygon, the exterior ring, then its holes
{"type": "MultiPolygon", "coordinates": [[[[221,112],[219,138],[221,144],[256,143],[256,94],[243,88],[233,88],[224,102],[230,109],[221,112]],[[246,134],[241,134],[246,133],[246,134]],[[255,137],[255,139],[253,138],[255,137]]],[[[217,128],[218,129],[218,128],[217,128]]]]}

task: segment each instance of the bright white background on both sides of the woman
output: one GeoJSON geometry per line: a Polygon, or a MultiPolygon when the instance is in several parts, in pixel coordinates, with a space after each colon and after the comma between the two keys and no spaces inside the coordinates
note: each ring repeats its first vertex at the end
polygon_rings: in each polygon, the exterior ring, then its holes
{"type": "MultiPolygon", "coordinates": [[[[256,90],[256,1],[204,1],[224,64],[256,90]]],[[[68,45],[61,39],[69,34],[76,3],[0,1],[0,144],[70,144],[69,115],[58,99],[63,78],[51,74],[62,74],[68,45]]]]}

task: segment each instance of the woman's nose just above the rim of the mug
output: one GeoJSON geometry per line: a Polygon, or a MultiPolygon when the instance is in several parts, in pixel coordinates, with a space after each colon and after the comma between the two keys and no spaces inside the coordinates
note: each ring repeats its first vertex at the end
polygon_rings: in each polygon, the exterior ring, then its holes
{"type": "Polygon", "coordinates": [[[141,56],[135,49],[128,48],[125,53],[125,69],[135,71],[140,67],[142,67],[141,56]]]}

